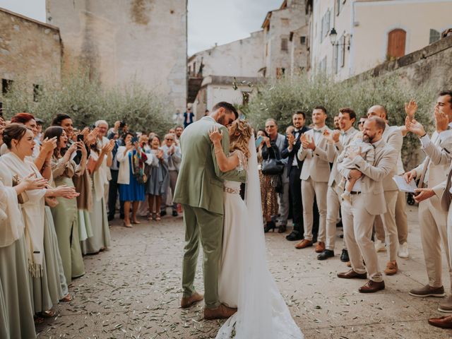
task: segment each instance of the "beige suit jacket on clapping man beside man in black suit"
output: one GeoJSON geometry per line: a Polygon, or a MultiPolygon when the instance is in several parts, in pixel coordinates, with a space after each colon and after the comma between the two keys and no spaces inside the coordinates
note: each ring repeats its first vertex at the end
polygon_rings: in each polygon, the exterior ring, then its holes
{"type": "MultiPolygon", "coordinates": [[[[328,127],[326,130],[331,133],[328,127]]],[[[314,138],[314,133],[314,129],[310,129],[304,134],[310,138],[314,138]]],[[[310,149],[305,150],[302,147],[299,149],[297,154],[298,159],[304,161],[302,174],[299,176],[300,179],[307,180],[311,177],[314,182],[328,182],[331,169],[326,155],[326,144],[326,138],[323,138],[322,134],[319,142],[316,143],[316,149],[314,151],[310,149]]]]}

